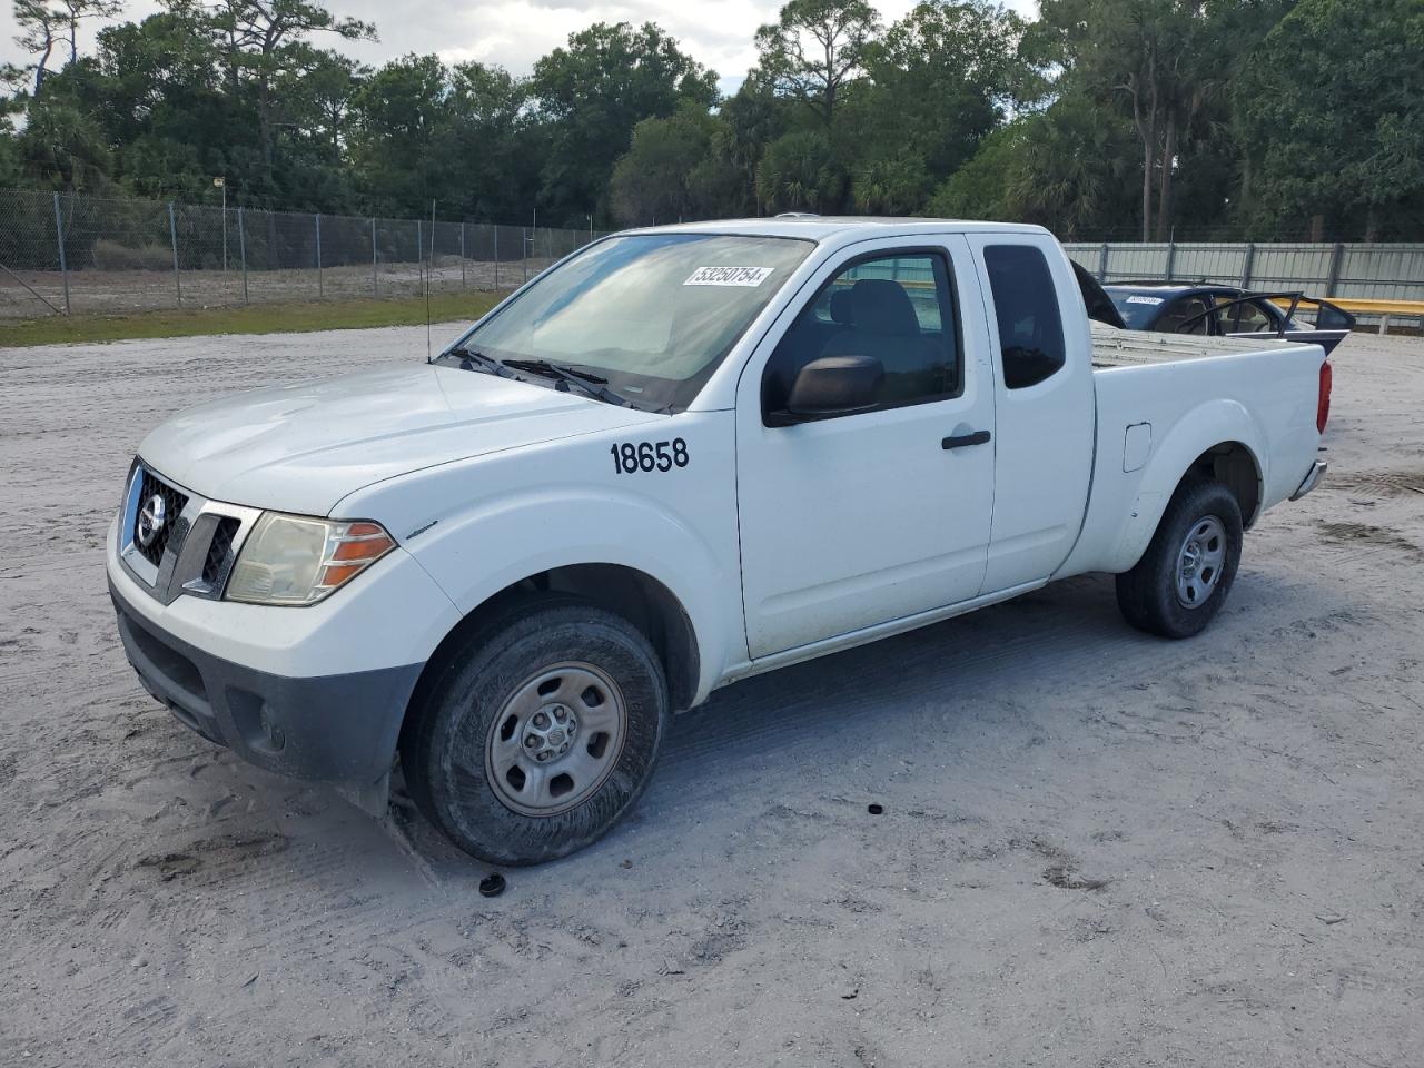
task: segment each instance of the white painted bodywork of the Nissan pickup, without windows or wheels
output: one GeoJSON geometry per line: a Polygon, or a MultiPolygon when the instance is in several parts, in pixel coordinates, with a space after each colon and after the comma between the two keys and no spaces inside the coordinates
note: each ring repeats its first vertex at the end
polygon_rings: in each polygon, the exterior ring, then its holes
{"type": "MultiPolygon", "coordinates": [[[[1052,577],[1122,571],[1195,457],[1246,446],[1262,507],[1316,457],[1313,346],[1091,330],[1068,259],[1034,226],[746,221],[668,228],[817,242],[686,412],[652,414],[444,366],[261,390],[182,413],[145,463],[219,501],[370,518],[400,550],[310,608],[179,597],[154,622],[273,674],[420,664],[498,591],[550,568],[617,564],[665,585],[695,632],[695,701],[718,685],[933,622],[1052,577]],[[1002,389],[983,248],[1044,249],[1068,362],[1002,389]],[[961,396],[793,427],[762,424],[762,367],[816,285],[871,249],[940,245],[957,286],[961,396]],[[1094,370],[1094,362],[1109,366],[1094,370]],[[1129,426],[1151,423],[1124,471],[1129,426]],[[984,447],[941,439],[991,430],[984,447]],[[609,449],[686,443],[627,474],[609,449]]],[[[114,541],[111,538],[111,541],[114,541]]]]}

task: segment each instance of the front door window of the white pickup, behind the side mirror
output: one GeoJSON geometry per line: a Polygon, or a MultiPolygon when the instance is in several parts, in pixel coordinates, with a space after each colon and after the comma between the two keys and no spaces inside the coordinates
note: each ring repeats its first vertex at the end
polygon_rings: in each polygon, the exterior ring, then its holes
{"type": "Polygon", "coordinates": [[[876,407],[958,393],[960,337],[946,258],[920,252],[860,259],[823,285],[766,363],[763,410],[785,410],[796,375],[822,356],[880,360],[886,376],[876,407]]]}

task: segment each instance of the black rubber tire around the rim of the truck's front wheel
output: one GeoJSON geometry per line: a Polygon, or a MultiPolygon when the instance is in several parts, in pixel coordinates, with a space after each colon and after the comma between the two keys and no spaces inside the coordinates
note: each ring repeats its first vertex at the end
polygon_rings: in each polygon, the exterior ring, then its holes
{"type": "Polygon", "coordinates": [[[431,665],[402,732],[400,763],[417,807],[460,849],[491,864],[538,864],[597,842],[622,819],[652,776],[668,718],[666,681],[646,637],[587,601],[545,595],[497,614],[431,665]],[[572,807],[518,812],[501,799],[511,790],[491,782],[496,738],[508,738],[510,721],[528,729],[537,713],[511,715],[510,702],[533,679],[575,662],[601,672],[622,702],[618,752],[572,807]],[[504,721],[498,735],[496,718],[504,721]]]}

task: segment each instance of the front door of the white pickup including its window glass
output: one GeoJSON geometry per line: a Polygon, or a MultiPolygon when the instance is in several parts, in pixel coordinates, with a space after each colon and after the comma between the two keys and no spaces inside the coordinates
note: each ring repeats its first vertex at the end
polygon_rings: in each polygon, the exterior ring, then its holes
{"type": "Polygon", "coordinates": [[[756,659],[975,597],[994,488],[984,305],[963,238],[866,242],[827,263],[738,384],[738,515],[756,659]],[[874,403],[789,417],[822,356],[884,367],[874,403]]]}

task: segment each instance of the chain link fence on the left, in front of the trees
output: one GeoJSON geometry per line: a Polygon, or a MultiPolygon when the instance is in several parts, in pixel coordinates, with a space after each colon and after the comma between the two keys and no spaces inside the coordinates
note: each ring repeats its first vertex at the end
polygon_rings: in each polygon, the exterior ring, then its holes
{"type": "Polygon", "coordinates": [[[595,236],[0,189],[0,318],[514,289],[595,236]]]}

